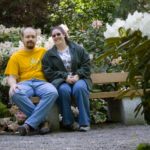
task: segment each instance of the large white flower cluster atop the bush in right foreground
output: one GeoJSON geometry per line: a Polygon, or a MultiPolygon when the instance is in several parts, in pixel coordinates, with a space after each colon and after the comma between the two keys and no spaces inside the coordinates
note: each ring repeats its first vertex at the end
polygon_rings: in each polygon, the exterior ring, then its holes
{"type": "Polygon", "coordinates": [[[125,30],[130,29],[131,32],[141,31],[142,36],[147,36],[150,39],[150,13],[141,13],[135,11],[129,14],[126,20],[116,19],[112,25],[106,24],[107,30],[104,32],[105,38],[119,37],[118,29],[123,27],[125,30]]]}

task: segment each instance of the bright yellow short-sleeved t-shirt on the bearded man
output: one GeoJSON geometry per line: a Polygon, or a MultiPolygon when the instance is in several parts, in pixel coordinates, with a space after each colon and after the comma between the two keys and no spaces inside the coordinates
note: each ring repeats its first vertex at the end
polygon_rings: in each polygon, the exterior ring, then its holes
{"type": "Polygon", "coordinates": [[[34,48],[33,50],[18,50],[8,61],[5,75],[17,76],[17,81],[30,79],[45,80],[41,60],[45,54],[45,48],[34,48]]]}

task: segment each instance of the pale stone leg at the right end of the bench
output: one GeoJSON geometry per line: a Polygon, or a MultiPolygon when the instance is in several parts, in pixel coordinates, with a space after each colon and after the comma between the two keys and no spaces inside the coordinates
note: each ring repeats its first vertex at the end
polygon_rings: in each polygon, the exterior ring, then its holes
{"type": "Polygon", "coordinates": [[[125,97],[122,100],[108,101],[108,116],[110,121],[122,122],[126,125],[145,124],[144,115],[141,115],[140,110],[138,116],[135,118],[135,108],[141,103],[140,97],[130,99],[125,97]]]}

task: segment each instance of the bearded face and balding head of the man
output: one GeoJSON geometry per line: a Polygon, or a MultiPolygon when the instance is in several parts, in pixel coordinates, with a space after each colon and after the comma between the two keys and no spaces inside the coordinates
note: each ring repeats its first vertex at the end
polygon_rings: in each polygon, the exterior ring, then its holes
{"type": "Polygon", "coordinates": [[[36,31],[32,28],[27,28],[23,32],[22,41],[26,49],[33,49],[37,41],[36,31]]]}

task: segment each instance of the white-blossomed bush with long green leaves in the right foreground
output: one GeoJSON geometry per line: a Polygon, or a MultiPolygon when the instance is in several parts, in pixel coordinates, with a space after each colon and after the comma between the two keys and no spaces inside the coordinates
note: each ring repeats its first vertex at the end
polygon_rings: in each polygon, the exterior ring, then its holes
{"type": "MultiPolygon", "coordinates": [[[[97,58],[111,60],[119,58],[120,71],[128,71],[128,82],[134,89],[143,89],[142,103],[145,120],[150,124],[150,13],[134,12],[126,20],[116,19],[112,25],[106,25],[105,53],[97,58]],[[137,76],[141,76],[140,81],[137,76]]],[[[112,61],[113,63],[116,61],[112,61]]]]}

